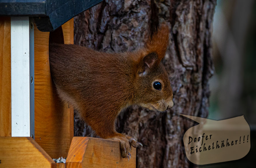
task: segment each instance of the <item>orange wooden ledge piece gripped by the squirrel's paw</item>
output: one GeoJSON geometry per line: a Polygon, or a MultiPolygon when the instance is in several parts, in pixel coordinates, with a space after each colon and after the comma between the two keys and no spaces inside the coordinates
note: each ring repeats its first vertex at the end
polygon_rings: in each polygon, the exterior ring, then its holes
{"type": "Polygon", "coordinates": [[[74,137],[66,168],[110,168],[136,167],[136,148],[131,147],[131,159],[123,159],[120,152],[120,142],[101,138],[74,137]]]}

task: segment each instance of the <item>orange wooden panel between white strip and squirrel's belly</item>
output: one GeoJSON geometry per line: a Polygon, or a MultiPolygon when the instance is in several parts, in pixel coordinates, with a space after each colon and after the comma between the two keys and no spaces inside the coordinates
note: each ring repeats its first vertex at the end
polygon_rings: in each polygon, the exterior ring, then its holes
{"type": "Polygon", "coordinates": [[[73,137],[73,108],[57,96],[49,66],[49,32],[36,26],[35,140],[52,157],[66,157],[73,137]]]}

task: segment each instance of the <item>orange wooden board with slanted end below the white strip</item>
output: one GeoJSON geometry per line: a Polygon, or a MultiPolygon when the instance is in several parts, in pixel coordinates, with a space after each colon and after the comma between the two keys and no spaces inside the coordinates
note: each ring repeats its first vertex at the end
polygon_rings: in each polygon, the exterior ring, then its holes
{"type": "Polygon", "coordinates": [[[56,167],[31,137],[0,137],[0,167],[56,167]]]}

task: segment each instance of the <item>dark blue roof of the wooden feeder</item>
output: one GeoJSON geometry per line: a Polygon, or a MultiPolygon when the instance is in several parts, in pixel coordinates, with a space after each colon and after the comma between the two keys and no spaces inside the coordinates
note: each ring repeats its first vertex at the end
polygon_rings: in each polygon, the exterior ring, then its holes
{"type": "Polygon", "coordinates": [[[41,31],[53,31],[102,0],[0,0],[1,16],[34,17],[41,31]]]}

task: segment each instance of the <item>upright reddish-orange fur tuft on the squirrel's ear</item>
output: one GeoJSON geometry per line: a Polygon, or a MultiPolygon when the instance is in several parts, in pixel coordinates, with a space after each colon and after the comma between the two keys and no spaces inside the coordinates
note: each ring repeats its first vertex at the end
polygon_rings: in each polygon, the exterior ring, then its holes
{"type": "Polygon", "coordinates": [[[145,48],[147,53],[157,54],[157,64],[164,58],[166,49],[169,44],[169,27],[163,23],[153,36],[146,42],[145,48]]]}

